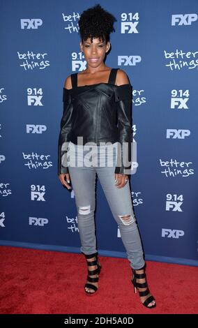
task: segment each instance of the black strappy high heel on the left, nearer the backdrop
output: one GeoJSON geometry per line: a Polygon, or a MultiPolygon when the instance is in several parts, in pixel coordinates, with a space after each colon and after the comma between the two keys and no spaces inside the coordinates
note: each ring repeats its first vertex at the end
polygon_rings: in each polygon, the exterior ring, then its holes
{"type": "Polygon", "coordinates": [[[93,258],[93,257],[96,258],[96,260],[93,260],[93,261],[86,260],[87,265],[88,265],[87,281],[89,281],[90,283],[86,283],[84,285],[84,291],[86,292],[87,295],[95,295],[97,290],[98,290],[98,287],[96,287],[95,285],[92,285],[91,283],[98,283],[99,274],[100,274],[100,270],[102,269],[102,265],[99,264],[99,262],[98,262],[98,252],[93,253],[93,254],[89,254],[89,255],[84,254],[84,256],[85,256],[86,259],[90,259],[90,258],[93,258]],[[92,265],[97,265],[97,269],[92,270],[92,271],[89,270],[89,267],[91,267],[92,265]],[[91,276],[94,276],[96,274],[97,274],[96,278],[91,277],[91,276]],[[94,292],[88,292],[85,288],[90,288],[90,289],[94,290],[94,292]]]}

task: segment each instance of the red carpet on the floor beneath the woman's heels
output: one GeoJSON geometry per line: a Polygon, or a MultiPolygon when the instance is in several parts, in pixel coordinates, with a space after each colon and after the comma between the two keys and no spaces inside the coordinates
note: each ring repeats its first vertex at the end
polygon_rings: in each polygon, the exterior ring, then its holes
{"type": "Polygon", "coordinates": [[[133,292],[128,260],[99,258],[99,290],[89,297],[83,255],[0,246],[0,313],[197,313],[197,267],[147,261],[157,303],[149,310],[133,292]]]}

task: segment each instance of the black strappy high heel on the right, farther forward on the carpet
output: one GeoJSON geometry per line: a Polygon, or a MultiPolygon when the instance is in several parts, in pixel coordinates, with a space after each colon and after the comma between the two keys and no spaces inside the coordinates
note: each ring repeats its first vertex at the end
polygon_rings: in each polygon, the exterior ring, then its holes
{"type": "MultiPolygon", "coordinates": [[[[145,267],[145,266],[144,266],[145,267]]],[[[138,288],[147,288],[146,290],[144,290],[144,292],[139,292],[139,296],[142,297],[142,296],[146,296],[150,293],[150,291],[148,290],[148,285],[147,285],[147,282],[146,282],[146,274],[145,274],[145,271],[143,274],[137,274],[136,271],[139,271],[139,270],[143,270],[144,267],[142,267],[141,269],[132,269],[132,284],[133,284],[133,287],[134,287],[134,292],[135,294],[137,293],[137,289],[138,288]],[[137,283],[137,279],[144,279],[145,278],[145,283],[137,283]]],[[[146,306],[146,308],[155,308],[156,304],[154,305],[151,305],[151,306],[148,306],[149,303],[151,303],[151,301],[155,301],[155,298],[151,295],[149,296],[147,299],[145,299],[144,303],[142,303],[144,306],[146,306]]]]}

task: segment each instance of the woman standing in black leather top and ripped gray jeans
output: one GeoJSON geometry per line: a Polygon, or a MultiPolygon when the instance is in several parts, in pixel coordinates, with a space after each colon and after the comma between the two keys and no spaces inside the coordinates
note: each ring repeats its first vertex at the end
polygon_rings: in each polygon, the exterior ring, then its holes
{"type": "Polygon", "coordinates": [[[75,193],[81,251],[88,265],[86,294],[96,294],[102,268],[94,221],[97,173],[119,225],[132,268],[134,290],[139,291],[144,306],[153,308],[155,299],[146,283],[144,254],[128,181],[131,173],[132,86],[124,70],[104,64],[115,21],[116,18],[100,4],[84,10],[79,18],[79,45],[87,66],[81,73],[69,75],[63,87],[58,174],[61,184],[68,189],[71,179],[75,193]],[[90,147],[91,165],[87,160],[90,147]]]}

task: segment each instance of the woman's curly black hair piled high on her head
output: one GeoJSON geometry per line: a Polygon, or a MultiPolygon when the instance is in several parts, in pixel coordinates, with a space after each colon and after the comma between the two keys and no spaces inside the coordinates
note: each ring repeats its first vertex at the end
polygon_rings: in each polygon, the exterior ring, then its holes
{"type": "Polygon", "coordinates": [[[87,38],[91,38],[91,43],[93,38],[100,38],[107,44],[109,34],[115,31],[114,22],[116,21],[116,17],[103,9],[99,3],[84,10],[78,21],[82,43],[87,38]]]}

